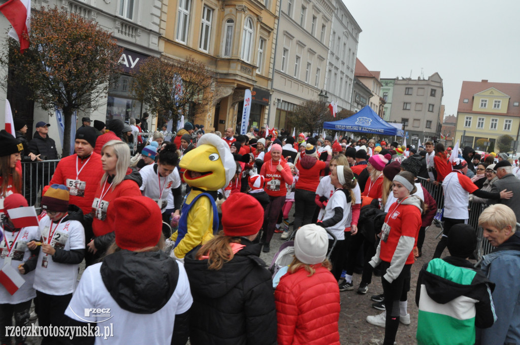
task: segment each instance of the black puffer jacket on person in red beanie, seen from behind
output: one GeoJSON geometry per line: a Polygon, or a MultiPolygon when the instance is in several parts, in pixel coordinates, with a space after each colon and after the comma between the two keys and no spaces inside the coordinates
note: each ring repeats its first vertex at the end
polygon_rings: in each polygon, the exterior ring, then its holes
{"type": "Polygon", "coordinates": [[[241,244],[245,247],[218,271],[208,270],[207,259],[197,260],[194,252],[185,258],[192,345],[276,344],[271,274],[259,258],[260,245],[245,238],[241,244]]]}

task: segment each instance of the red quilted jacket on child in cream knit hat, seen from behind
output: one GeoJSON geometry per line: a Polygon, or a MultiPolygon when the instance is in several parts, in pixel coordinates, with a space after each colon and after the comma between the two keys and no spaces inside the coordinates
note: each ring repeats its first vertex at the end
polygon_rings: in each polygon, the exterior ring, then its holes
{"type": "Polygon", "coordinates": [[[339,345],[340,290],[332,273],[314,265],[283,275],[275,290],[278,345],[339,345]]]}

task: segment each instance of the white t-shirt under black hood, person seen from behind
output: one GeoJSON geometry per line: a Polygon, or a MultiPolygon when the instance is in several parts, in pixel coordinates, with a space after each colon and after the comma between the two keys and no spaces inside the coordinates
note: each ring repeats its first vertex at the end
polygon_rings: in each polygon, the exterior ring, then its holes
{"type": "Polygon", "coordinates": [[[170,344],[175,315],[187,312],[193,303],[184,265],[178,262],[177,265],[179,278],[175,291],[165,306],[153,314],[136,314],[119,307],[103,284],[100,273],[101,263],[96,263],[83,272],[65,315],[76,321],[90,322],[92,325],[92,322],[103,319],[97,316],[85,317],[85,309],[110,308],[111,319],[99,322],[97,325],[102,331],[105,326],[113,324],[113,337],[108,337],[106,340],[96,337],[96,345],[170,344]]]}

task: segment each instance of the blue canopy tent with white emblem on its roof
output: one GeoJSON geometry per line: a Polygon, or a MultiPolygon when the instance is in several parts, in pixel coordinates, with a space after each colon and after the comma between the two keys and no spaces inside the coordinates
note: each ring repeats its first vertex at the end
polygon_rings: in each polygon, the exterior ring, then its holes
{"type": "Polygon", "coordinates": [[[324,122],[323,128],[402,137],[402,130],[383,121],[368,105],[350,117],[339,121],[324,122]]]}

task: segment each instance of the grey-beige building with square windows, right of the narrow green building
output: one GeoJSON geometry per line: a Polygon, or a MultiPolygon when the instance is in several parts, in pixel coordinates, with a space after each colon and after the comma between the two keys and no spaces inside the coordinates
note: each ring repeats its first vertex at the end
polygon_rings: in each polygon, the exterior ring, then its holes
{"type": "Polygon", "coordinates": [[[439,137],[443,79],[436,72],[428,79],[396,78],[392,92],[390,122],[400,122],[408,133],[407,143],[416,145],[439,137]]]}

